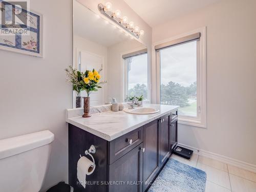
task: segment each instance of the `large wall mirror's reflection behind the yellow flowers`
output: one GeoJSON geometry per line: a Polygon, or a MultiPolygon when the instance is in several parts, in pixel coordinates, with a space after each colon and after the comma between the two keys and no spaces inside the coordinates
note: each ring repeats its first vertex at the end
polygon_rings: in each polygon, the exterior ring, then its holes
{"type": "MultiPolygon", "coordinates": [[[[84,72],[101,67],[101,80],[106,80],[91,97],[91,106],[116,98],[124,102],[131,96],[147,98],[147,49],[130,34],[74,0],[74,67],[84,72]]],[[[74,107],[76,106],[76,93],[74,107]]],[[[81,96],[86,96],[82,91],[81,96]]]]}

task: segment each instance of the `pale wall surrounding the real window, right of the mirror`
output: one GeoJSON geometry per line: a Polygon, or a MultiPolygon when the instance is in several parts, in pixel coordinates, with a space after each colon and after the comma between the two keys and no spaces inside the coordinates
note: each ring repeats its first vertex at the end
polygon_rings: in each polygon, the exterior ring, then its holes
{"type": "Polygon", "coordinates": [[[226,0],[153,28],[153,42],[207,27],[207,129],[180,143],[256,165],[256,1],[226,0]]]}

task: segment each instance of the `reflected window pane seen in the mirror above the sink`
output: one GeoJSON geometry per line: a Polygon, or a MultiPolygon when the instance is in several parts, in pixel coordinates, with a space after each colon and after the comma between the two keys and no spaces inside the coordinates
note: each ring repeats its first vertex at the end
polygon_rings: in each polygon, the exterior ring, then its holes
{"type": "Polygon", "coordinates": [[[126,95],[147,98],[147,53],[125,58],[127,70],[126,95]]]}

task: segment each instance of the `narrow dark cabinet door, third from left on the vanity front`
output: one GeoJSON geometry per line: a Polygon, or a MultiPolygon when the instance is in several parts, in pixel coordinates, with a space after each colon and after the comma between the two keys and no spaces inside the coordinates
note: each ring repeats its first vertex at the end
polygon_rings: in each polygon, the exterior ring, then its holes
{"type": "Polygon", "coordinates": [[[160,126],[160,166],[162,166],[170,155],[170,115],[164,116],[159,121],[160,126]]]}

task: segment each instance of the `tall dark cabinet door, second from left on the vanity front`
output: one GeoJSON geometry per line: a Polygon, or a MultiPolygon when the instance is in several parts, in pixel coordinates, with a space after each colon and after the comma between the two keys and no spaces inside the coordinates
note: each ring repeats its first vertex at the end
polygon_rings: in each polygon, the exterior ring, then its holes
{"type": "Polygon", "coordinates": [[[149,187],[159,170],[159,126],[154,120],[143,126],[143,191],[149,187]]]}

